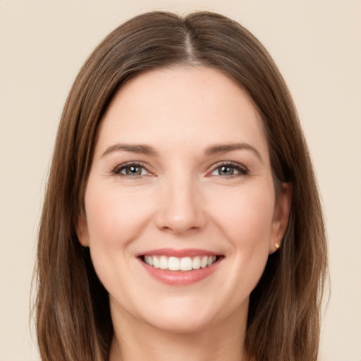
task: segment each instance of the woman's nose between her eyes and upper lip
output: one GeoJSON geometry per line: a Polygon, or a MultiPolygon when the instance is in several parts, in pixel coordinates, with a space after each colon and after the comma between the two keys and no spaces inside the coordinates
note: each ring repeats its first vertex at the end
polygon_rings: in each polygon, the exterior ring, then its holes
{"type": "Polygon", "coordinates": [[[165,183],[156,215],[157,227],[175,234],[192,233],[204,228],[207,215],[197,181],[182,177],[165,183]]]}

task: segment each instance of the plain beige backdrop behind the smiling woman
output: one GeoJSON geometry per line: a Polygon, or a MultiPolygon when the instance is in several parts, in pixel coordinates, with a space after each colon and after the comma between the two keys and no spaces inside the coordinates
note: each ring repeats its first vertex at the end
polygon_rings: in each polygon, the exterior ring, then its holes
{"type": "Polygon", "coordinates": [[[28,326],[35,239],[63,102],[93,47],[142,11],[210,9],[269,49],[298,106],[331,271],[322,360],[361,360],[361,1],[0,0],[0,360],[39,360],[28,326]]]}

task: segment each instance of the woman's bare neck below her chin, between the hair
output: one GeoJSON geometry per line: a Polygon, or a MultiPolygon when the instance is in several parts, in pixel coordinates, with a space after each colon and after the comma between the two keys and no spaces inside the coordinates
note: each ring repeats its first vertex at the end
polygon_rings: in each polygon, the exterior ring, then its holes
{"type": "Polygon", "coordinates": [[[114,319],[109,361],[245,361],[246,320],[239,312],[201,330],[171,332],[114,319]]]}

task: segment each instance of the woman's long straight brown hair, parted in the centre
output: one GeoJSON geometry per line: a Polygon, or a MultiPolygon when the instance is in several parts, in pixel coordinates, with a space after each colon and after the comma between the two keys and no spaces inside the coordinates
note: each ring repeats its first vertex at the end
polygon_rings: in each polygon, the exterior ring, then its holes
{"type": "Polygon", "coordinates": [[[293,185],[281,249],[250,296],[245,347],[257,361],[314,361],[326,276],[317,185],[298,115],[262,44],[216,13],[145,13],[111,32],[87,59],[63,109],[39,228],[36,322],[42,360],[106,361],[113,337],[108,294],[75,232],[97,129],[112,97],[152,68],[219,69],[250,95],[267,134],[276,190],[293,185]]]}

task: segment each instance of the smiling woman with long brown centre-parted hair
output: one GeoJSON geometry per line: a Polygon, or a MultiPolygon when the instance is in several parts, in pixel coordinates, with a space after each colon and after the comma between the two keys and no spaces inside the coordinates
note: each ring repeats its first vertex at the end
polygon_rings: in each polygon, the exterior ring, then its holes
{"type": "Polygon", "coordinates": [[[54,149],[42,360],[317,360],[325,274],[307,146],[257,39],[215,13],[111,32],[54,149]]]}

